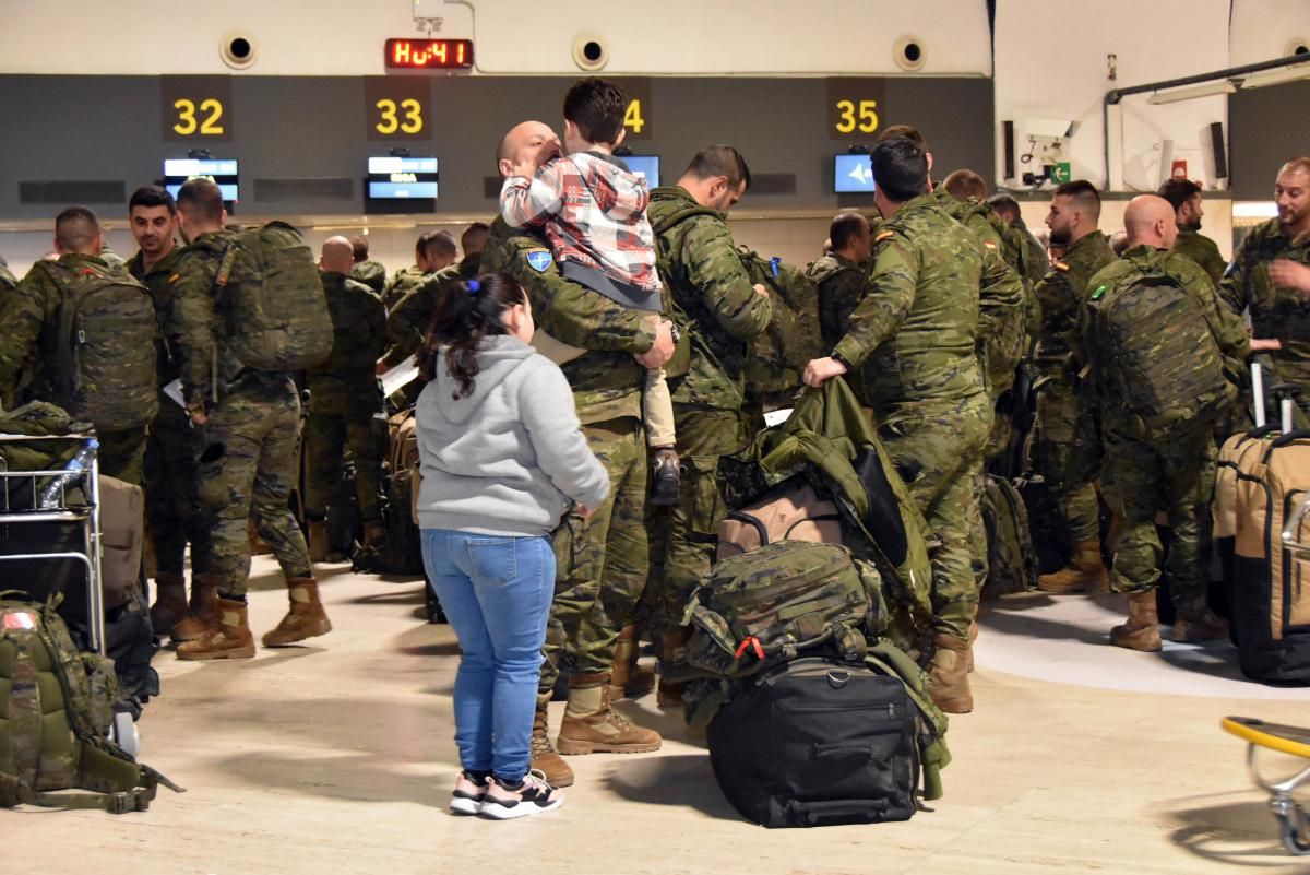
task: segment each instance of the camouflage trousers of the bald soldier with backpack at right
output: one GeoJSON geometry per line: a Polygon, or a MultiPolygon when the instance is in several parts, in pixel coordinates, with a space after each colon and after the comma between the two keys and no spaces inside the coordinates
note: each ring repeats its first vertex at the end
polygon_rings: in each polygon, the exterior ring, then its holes
{"type": "Polygon", "coordinates": [[[1123,513],[1111,582],[1116,592],[1148,592],[1169,576],[1180,616],[1205,608],[1210,559],[1210,499],[1218,452],[1209,427],[1154,447],[1107,428],[1102,489],[1123,513]],[[1155,515],[1169,516],[1169,561],[1155,515]],[[1163,565],[1163,567],[1162,567],[1163,565]]]}

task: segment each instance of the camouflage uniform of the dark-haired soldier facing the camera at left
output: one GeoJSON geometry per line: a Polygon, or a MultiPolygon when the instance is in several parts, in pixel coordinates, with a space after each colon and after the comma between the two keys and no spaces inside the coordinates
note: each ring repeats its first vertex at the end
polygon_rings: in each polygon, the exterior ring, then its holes
{"type": "Polygon", "coordinates": [[[151,291],[160,326],[160,411],[151,423],[145,443],[145,525],[155,544],[155,565],[160,574],[178,576],[182,575],[189,541],[191,574],[207,574],[210,570],[210,531],[200,519],[195,479],[200,431],[191,427],[191,418],[182,406],[164,394],[164,386],[181,376],[177,356],[165,339],[173,313],[169,279],[177,270],[179,253],[181,246],[174,246],[149,270],[145,270],[141,253],[127,262],[127,272],[151,291]]]}

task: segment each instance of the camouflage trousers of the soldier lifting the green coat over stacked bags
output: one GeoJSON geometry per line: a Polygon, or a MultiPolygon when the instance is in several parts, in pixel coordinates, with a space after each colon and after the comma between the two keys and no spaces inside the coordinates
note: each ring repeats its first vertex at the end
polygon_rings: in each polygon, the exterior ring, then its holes
{"type": "Polygon", "coordinates": [[[979,393],[909,403],[875,415],[887,453],[942,541],[931,557],[933,625],[938,633],[967,639],[979,604],[972,557],[984,532],[980,483],[982,451],[992,430],[990,400],[979,393]]]}

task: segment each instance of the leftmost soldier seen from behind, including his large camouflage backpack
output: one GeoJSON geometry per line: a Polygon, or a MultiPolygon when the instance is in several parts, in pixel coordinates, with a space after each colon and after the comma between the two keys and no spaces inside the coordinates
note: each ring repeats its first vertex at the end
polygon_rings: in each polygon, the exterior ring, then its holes
{"type": "Polygon", "coordinates": [[[140,486],[159,327],[145,287],[101,259],[101,244],[96,214],[68,207],[55,219],[58,261],[37,262],[0,299],[0,401],[12,409],[29,372],[31,398],[96,426],[101,473],[140,486]]]}

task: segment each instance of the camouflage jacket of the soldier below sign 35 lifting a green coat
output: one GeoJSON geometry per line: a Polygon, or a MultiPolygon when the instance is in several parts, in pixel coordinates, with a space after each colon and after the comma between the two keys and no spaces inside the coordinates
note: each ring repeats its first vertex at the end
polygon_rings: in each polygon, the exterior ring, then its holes
{"type": "Polygon", "coordinates": [[[867,405],[886,409],[984,390],[980,249],[931,195],[883,221],[863,299],[834,347],[852,367],[863,365],[867,405]]]}

